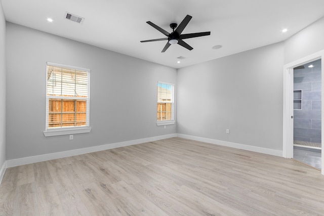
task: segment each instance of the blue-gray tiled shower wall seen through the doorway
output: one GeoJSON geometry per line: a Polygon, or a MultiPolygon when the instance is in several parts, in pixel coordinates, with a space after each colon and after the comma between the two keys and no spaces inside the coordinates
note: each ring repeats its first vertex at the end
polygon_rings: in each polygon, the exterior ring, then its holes
{"type": "Polygon", "coordinates": [[[294,110],[294,140],[321,143],[321,60],[304,67],[294,70],[294,90],[302,90],[302,109],[294,110]]]}

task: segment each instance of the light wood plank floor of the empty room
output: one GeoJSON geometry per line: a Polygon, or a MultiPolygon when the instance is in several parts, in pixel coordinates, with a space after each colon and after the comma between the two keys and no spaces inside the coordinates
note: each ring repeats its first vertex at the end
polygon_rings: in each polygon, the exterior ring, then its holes
{"type": "Polygon", "coordinates": [[[320,171],[181,138],[11,167],[0,185],[0,215],[323,214],[320,171]]]}

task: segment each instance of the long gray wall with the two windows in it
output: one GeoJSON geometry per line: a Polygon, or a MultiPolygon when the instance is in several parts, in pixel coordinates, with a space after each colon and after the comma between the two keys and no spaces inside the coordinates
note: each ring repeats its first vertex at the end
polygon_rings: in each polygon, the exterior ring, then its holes
{"type": "Polygon", "coordinates": [[[156,125],[176,69],[7,22],[7,160],[176,133],[156,125]],[[46,62],[91,69],[90,134],[45,137],[46,62]]]}

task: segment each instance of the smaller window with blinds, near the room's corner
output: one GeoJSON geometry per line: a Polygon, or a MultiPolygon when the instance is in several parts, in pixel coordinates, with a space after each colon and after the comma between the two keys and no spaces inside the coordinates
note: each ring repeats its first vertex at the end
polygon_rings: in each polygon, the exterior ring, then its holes
{"type": "Polygon", "coordinates": [[[174,123],[174,84],[157,82],[157,125],[174,123]]]}

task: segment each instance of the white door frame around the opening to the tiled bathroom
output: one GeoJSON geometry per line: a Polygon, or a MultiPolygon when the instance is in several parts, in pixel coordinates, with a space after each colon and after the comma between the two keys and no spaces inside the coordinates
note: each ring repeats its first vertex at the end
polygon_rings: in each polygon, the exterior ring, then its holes
{"type": "MultiPolygon", "coordinates": [[[[303,65],[314,60],[321,59],[321,74],[322,79],[324,77],[324,50],[314,53],[312,55],[306,56],[297,61],[291,62],[284,65],[284,113],[283,113],[283,127],[282,127],[282,157],[293,158],[294,157],[294,119],[291,116],[294,116],[294,104],[293,104],[293,90],[294,90],[294,67],[303,65]]],[[[324,138],[324,129],[323,129],[323,120],[324,120],[324,84],[321,85],[321,120],[322,120],[322,130],[321,136],[324,138]]],[[[322,142],[323,143],[323,142],[322,142]]],[[[322,154],[322,170],[321,174],[324,175],[324,151],[321,151],[322,154]]]]}

